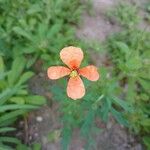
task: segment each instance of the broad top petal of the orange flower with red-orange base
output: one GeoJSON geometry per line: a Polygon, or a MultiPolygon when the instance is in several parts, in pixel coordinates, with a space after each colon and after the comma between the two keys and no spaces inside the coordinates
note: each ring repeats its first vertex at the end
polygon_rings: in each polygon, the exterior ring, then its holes
{"type": "Polygon", "coordinates": [[[65,47],[60,52],[61,60],[71,69],[77,69],[83,59],[83,52],[78,47],[65,47]]]}

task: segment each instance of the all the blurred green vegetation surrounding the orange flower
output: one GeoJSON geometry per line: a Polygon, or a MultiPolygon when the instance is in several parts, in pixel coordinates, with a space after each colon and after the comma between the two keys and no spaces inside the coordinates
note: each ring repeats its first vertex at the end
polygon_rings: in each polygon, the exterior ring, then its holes
{"type": "MultiPolygon", "coordinates": [[[[147,19],[149,7],[145,7],[147,19]]],[[[108,12],[122,31],[104,43],[76,39],[75,26],[84,9],[80,0],[0,0],[0,149],[41,149],[38,143],[29,148],[10,135],[20,117],[46,104],[44,97],[28,91],[33,65],[40,60],[45,70],[61,64],[59,51],[68,45],[79,46],[85,53],[91,47],[98,54],[108,53],[110,65],[99,68],[101,79],[96,84],[85,80],[83,100],[66,97],[61,88],[65,80],[50,89],[63,113],[62,149],[67,149],[75,127],[86,137],[86,148],[92,149],[92,133],[99,131],[95,118],[107,123],[110,114],[150,149],[150,33],[137,27],[138,7],[123,3],[108,12]]],[[[89,61],[90,56],[84,64],[89,61]]]]}

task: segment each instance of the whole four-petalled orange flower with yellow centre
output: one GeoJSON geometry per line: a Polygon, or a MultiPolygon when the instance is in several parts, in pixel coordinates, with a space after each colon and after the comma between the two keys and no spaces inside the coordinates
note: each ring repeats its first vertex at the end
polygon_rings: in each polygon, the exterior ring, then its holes
{"type": "Polygon", "coordinates": [[[63,48],[60,52],[60,58],[68,67],[49,67],[47,70],[48,77],[55,80],[69,75],[70,79],[67,85],[68,97],[74,100],[82,98],[85,95],[85,87],[80,75],[88,80],[97,81],[99,79],[97,68],[93,65],[79,68],[83,59],[83,52],[78,47],[69,46],[63,48]]]}

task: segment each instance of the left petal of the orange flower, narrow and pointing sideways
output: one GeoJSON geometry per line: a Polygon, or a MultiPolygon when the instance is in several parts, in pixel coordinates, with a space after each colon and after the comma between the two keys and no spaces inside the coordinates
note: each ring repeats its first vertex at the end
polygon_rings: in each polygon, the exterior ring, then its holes
{"type": "Polygon", "coordinates": [[[70,74],[70,69],[63,66],[52,66],[47,70],[47,75],[50,79],[59,79],[70,74]]]}

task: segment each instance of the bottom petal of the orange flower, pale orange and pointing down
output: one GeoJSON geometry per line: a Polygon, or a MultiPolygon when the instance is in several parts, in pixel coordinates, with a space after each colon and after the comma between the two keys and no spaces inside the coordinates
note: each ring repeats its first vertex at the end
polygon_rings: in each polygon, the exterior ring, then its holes
{"type": "Polygon", "coordinates": [[[80,99],[85,94],[84,84],[79,76],[70,78],[67,86],[68,97],[76,100],[80,99]]]}

